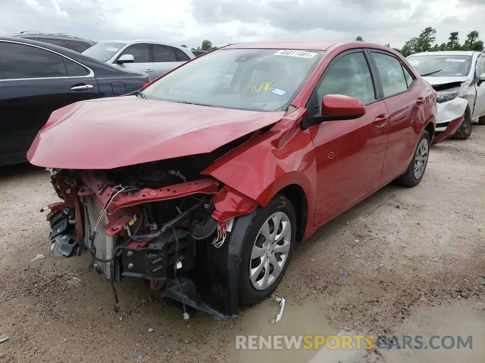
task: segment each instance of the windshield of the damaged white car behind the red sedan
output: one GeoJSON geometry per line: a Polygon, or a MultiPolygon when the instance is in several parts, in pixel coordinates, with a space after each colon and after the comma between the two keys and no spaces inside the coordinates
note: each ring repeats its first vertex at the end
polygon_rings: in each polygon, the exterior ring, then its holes
{"type": "Polygon", "coordinates": [[[433,73],[430,77],[468,76],[471,68],[471,56],[426,55],[407,59],[422,75],[433,73]]]}

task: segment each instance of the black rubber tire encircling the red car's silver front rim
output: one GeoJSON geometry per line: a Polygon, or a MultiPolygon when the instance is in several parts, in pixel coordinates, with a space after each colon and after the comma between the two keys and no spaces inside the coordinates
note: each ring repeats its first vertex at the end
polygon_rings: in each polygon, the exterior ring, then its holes
{"type": "MultiPolygon", "coordinates": [[[[258,240],[258,241],[259,241],[258,240]]],[[[291,201],[282,196],[277,194],[271,201],[266,205],[266,207],[262,208],[258,215],[253,219],[251,227],[249,227],[249,231],[246,236],[246,240],[244,241],[244,245],[242,246],[242,254],[241,254],[241,262],[239,264],[239,303],[242,305],[253,305],[262,300],[266,299],[278,286],[279,282],[283,278],[283,275],[288,268],[288,264],[291,260],[292,252],[295,248],[296,244],[296,215],[293,205],[291,201]],[[263,224],[271,217],[275,212],[283,212],[285,213],[290,220],[291,226],[291,240],[290,240],[290,250],[288,252],[288,257],[284,262],[284,266],[276,277],[275,281],[266,289],[258,290],[256,289],[249,277],[249,270],[250,270],[250,257],[252,254],[253,246],[257,242],[257,237],[262,237],[264,241],[264,237],[259,235],[259,230],[263,226],[263,224]]],[[[269,266],[269,265],[268,265],[269,266]]]]}

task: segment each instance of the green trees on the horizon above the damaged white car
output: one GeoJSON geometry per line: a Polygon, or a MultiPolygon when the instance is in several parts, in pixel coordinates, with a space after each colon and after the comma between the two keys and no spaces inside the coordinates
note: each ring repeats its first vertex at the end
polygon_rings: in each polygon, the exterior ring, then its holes
{"type": "MultiPolygon", "coordinates": [[[[436,29],[432,27],[427,27],[421,34],[417,37],[412,37],[406,43],[404,43],[401,49],[399,48],[392,48],[399,53],[401,53],[404,57],[407,57],[414,53],[420,52],[436,52],[442,50],[476,50],[482,51],[484,50],[484,42],[481,41],[480,34],[478,31],[473,30],[470,31],[465,39],[463,44],[460,44],[460,39],[458,37],[458,31],[452,31],[450,33],[450,37],[448,38],[448,43],[441,43],[435,44],[436,41],[436,29]]],[[[356,38],[357,42],[363,42],[361,36],[356,38]]],[[[389,44],[386,44],[390,48],[389,44]]]]}

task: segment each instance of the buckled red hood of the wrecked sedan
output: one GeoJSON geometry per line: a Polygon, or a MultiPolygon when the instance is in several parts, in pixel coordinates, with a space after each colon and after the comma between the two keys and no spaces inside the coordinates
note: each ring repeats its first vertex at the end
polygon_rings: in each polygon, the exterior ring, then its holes
{"type": "Polygon", "coordinates": [[[81,101],[52,113],[27,159],[65,169],[112,169],[210,152],[271,125],[284,112],[144,100],[81,101]]]}

